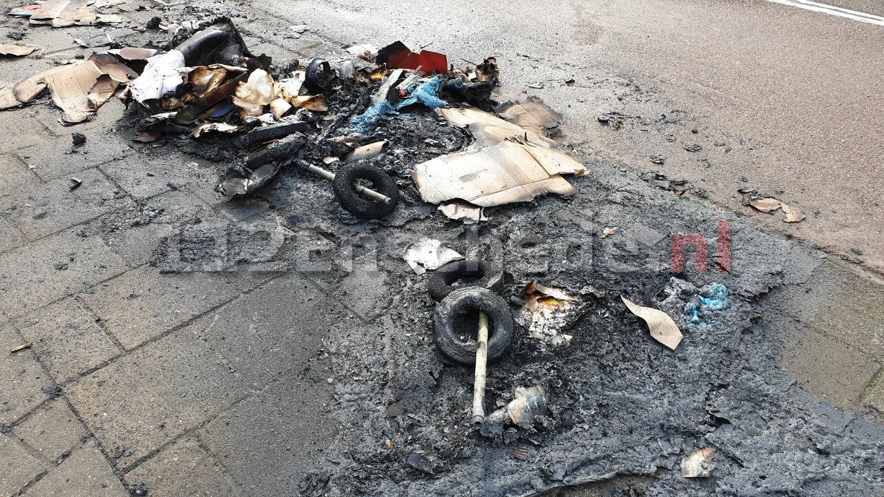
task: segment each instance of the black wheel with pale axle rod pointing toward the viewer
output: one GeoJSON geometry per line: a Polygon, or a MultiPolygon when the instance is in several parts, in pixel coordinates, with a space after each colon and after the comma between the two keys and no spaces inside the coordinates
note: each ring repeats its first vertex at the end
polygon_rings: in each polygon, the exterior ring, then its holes
{"type": "Polygon", "coordinates": [[[480,287],[458,288],[436,305],[433,338],[439,351],[454,363],[476,363],[476,341],[463,341],[454,331],[454,320],[469,310],[479,310],[488,316],[488,360],[503,356],[513,341],[513,313],[503,297],[480,287]]]}

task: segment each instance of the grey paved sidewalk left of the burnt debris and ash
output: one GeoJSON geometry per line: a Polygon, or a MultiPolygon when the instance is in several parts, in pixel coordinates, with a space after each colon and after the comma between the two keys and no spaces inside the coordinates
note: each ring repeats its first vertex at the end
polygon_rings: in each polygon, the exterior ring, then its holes
{"type": "MultiPolygon", "coordinates": [[[[95,31],[32,27],[25,42],[46,46],[44,55],[88,53],[67,39],[95,31]]],[[[247,39],[258,53],[297,57],[247,39]]],[[[3,78],[49,64],[4,62],[3,78]]],[[[114,129],[124,111],[111,100],[94,121],[65,127],[43,98],[3,115],[0,496],[125,496],[140,483],[150,495],[296,489],[335,434],[314,330],[340,310],[317,303],[295,272],[150,265],[182,226],[224,226],[254,211],[217,203],[220,166],[136,149],[128,130],[114,129]],[[73,132],[87,136],[80,149],[73,132]],[[70,189],[72,176],[80,187],[70,189]]]]}

